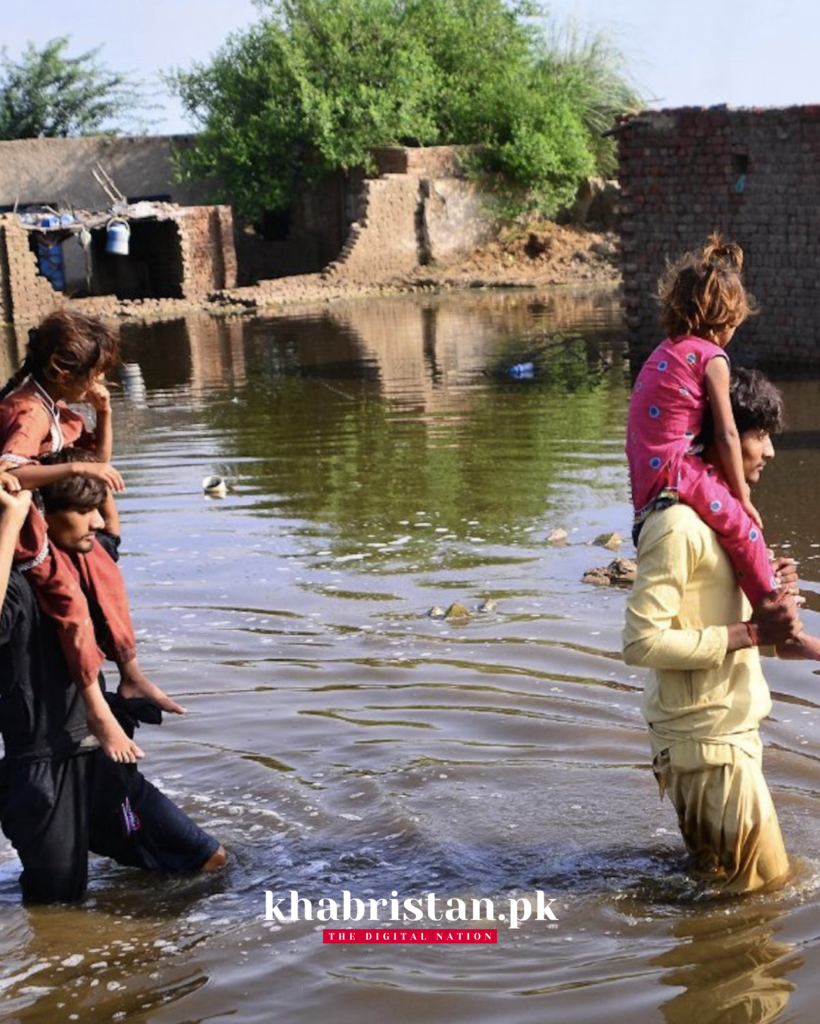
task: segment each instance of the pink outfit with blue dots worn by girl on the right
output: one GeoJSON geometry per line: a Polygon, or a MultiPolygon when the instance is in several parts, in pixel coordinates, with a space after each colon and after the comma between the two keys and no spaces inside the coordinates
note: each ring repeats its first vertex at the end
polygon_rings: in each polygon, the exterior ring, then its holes
{"type": "Polygon", "coordinates": [[[715,358],[729,361],[711,341],[667,338],[638,374],[627,423],[635,527],[637,534],[650,512],[664,504],[681,501],[693,508],[718,535],[754,605],[777,586],[766,541],[696,446],[708,402],[706,367],[715,358]]]}

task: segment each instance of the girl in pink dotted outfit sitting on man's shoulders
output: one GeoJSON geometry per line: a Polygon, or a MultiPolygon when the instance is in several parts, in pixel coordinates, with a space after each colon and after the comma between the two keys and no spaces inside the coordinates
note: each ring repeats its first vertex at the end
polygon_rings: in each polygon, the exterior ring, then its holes
{"type": "Polygon", "coordinates": [[[718,535],[752,605],[776,589],[761,517],[743,476],[740,437],[729,400],[726,346],[752,312],[741,280],[743,251],[713,236],[700,252],[672,264],[659,285],[668,333],[638,375],[630,401],[634,538],[655,509],[681,501],[718,535]],[[720,467],[696,439],[711,410],[720,467]]]}

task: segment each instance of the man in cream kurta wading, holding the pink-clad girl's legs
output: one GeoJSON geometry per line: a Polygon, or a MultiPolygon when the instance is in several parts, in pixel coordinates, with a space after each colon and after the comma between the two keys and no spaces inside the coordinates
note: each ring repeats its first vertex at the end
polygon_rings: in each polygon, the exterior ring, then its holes
{"type": "MultiPolygon", "coordinates": [[[[756,484],[774,458],[782,399],[761,374],[736,370],[731,402],[743,473],[756,484]]],[[[706,461],[714,456],[707,443],[706,461]]],[[[692,873],[724,892],[774,887],[789,876],[762,770],[759,727],[772,701],[760,647],[818,660],[820,641],[802,632],[791,563],[781,559],[774,569],[777,598],[752,611],[716,534],[691,508],[673,504],[643,525],[627,602],[623,658],[652,670],[642,711],[660,796],[668,794],[678,812],[692,873]]]]}

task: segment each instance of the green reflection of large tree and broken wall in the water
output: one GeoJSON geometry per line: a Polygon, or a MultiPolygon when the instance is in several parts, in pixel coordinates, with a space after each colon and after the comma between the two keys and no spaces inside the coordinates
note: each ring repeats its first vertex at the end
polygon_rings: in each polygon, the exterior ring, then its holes
{"type": "Polygon", "coordinates": [[[457,537],[508,542],[544,516],[562,477],[594,477],[611,459],[624,378],[605,346],[576,337],[551,348],[543,384],[501,386],[480,371],[509,358],[520,324],[511,339],[471,310],[458,329],[451,308],[418,305],[397,323],[383,306],[257,326],[242,404],[209,413],[225,460],[242,459],[245,482],[271,496],[262,508],[287,504],[349,539],[389,540],[425,511],[457,537]]]}

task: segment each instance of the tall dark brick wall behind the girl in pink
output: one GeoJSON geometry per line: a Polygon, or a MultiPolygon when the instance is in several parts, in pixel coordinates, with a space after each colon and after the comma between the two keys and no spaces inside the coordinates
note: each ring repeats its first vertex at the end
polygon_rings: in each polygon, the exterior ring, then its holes
{"type": "Polygon", "coordinates": [[[616,133],[634,367],[661,338],[654,296],[665,260],[714,230],[743,247],[761,306],[732,342],[733,360],[820,364],[820,106],[644,112],[616,133]]]}

